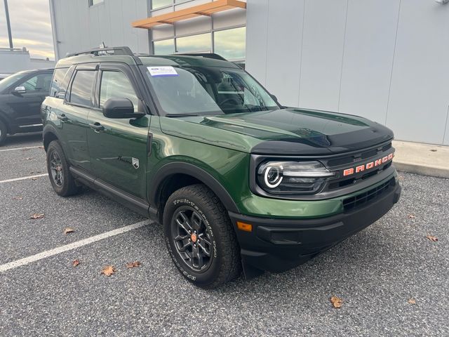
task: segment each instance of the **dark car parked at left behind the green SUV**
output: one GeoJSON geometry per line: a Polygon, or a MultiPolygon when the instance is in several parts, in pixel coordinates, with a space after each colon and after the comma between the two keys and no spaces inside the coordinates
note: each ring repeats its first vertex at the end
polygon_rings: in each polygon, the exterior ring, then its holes
{"type": "Polygon", "coordinates": [[[53,69],[26,70],[0,81],[0,145],[6,135],[42,130],[41,104],[53,69]]]}

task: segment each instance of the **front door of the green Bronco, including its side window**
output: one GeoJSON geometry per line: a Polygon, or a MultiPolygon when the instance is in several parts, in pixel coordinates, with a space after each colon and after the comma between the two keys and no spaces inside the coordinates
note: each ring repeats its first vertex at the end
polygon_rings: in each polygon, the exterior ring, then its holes
{"type": "Polygon", "coordinates": [[[88,147],[93,174],[109,185],[146,199],[147,141],[150,115],[140,119],[111,119],[102,114],[109,98],[128,98],[138,111],[142,96],[127,65],[100,65],[98,109],[88,114],[88,147]]]}

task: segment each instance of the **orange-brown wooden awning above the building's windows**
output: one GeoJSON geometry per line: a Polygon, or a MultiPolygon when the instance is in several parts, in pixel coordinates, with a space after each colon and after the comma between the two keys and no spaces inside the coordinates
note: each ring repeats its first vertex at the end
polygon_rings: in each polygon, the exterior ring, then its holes
{"type": "Polygon", "coordinates": [[[166,14],[156,15],[152,18],[137,20],[132,23],[133,27],[149,29],[157,25],[173,25],[177,21],[196,18],[197,16],[210,16],[213,13],[227,11],[232,8],[246,8],[246,2],[239,0],[216,0],[208,4],[180,9],[166,14]]]}

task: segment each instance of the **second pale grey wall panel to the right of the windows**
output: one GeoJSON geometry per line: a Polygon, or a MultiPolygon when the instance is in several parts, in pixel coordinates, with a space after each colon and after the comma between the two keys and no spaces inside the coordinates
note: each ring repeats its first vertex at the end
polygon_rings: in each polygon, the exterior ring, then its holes
{"type": "Polygon", "coordinates": [[[304,0],[269,4],[267,38],[267,89],[283,105],[298,106],[304,0]],[[286,8],[289,10],[286,11],[286,8]]]}

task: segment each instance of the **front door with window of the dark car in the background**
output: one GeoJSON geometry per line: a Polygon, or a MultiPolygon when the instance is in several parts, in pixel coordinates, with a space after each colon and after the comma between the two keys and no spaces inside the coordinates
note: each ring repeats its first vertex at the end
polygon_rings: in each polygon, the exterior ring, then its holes
{"type": "Polygon", "coordinates": [[[25,91],[17,92],[12,88],[7,103],[13,111],[13,122],[16,126],[32,126],[42,124],[41,104],[50,91],[51,72],[44,72],[28,77],[16,87],[25,91]]]}

